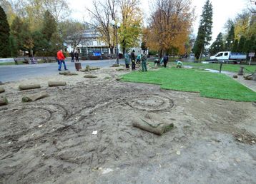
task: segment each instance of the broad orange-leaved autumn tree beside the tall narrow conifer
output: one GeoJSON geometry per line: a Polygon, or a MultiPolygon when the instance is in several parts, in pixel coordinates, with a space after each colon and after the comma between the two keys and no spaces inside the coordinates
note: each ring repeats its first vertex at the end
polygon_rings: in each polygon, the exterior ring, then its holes
{"type": "Polygon", "coordinates": [[[147,47],[159,51],[160,56],[174,50],[184,53],[194,19],[191,1],[157,0],[153,9],[144,34],[147,47]]]}

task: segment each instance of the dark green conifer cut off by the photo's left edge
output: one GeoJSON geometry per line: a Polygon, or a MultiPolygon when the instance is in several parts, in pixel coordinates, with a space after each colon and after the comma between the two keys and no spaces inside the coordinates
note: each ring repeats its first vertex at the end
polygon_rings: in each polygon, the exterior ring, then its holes
{"type": "Polygon", "coordinates": [[[0,6],[0,57],[10,56],[9,47],[10,27],[4,9],[0,6]]]}

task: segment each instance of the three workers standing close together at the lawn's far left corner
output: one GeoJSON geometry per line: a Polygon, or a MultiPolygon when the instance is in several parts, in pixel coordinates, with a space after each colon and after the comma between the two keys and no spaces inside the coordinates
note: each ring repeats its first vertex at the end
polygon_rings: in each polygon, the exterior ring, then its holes
{"type": "MultiPolygon", "coordinates": [[[[132,61],[132,70],[135,70],[135,65],[139,61],[142,63],[142,71],[147,71],[147,55],[146,53],[139,54],[137,58],[135,57],[135,51],[133,50],[131,53],[131,61],[132,61]],[[137,59],[137,61],[136,61],[137,59]]],[[[124,54],[124,62],[126,68],[129,68],[129,63],[130,63],[130,58],[129,58],[129,53],[124,54]]]]}

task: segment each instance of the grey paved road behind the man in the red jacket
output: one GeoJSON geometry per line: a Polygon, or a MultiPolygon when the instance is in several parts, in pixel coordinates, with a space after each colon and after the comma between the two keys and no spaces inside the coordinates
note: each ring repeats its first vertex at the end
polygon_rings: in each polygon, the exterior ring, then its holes
{"type": "MultiPolygon", "coordinates": [[[[112,66],[115,60],[102,61],[82,61],[82,68],[89,66],[107,67],[112,66]]],[[[124,63],[123,60],[119,63],[124,63]]],[[[74,63],[66,62],[69,71],[75,71],[74,63]]],[[[64,69],[63,66],[61,69],[64,69]]],[[[18,81],[25,78],[34,78],[39,76],[49,76],[59,73],[57,63],[41,63],[35,65],[12,65],[0,66],[0,81],[18,81]]]]}

